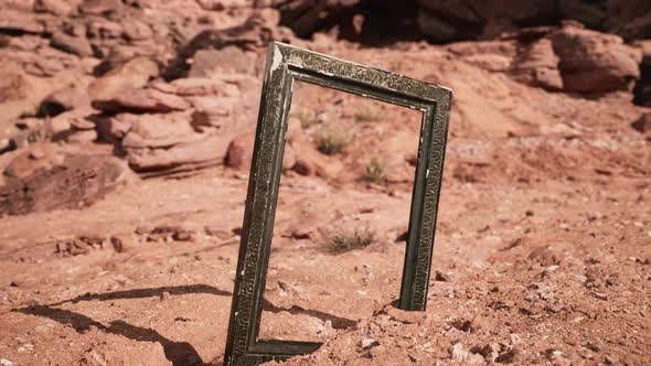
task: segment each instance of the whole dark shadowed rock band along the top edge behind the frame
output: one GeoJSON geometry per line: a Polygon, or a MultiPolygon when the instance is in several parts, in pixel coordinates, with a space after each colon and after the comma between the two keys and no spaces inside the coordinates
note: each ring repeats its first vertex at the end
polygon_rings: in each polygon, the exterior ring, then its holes
{"type": "MultiPolygon", "coordinates": [[[[563,20],[613,32],[626,40],[651,37],[651,2],[645,0],[263,0],[257,3],[278,9],[280,23],[302,37],[335,24],[340,29],[350,26],[355,17],[373,22],[375,17],[386,18],[386,13],[406,18],[393,19],[394,26],[410,22],[415,25],[413,31],[445,43],[492,40],[503,32],[558,24],[563,20]],[[413,12],[404,11],[413,8],[413,12]],[[377,9],[382,11],[376,12],[377,9]]],[[[386,21],[380,21],[378,26],[383,25],[386,21]]]]}

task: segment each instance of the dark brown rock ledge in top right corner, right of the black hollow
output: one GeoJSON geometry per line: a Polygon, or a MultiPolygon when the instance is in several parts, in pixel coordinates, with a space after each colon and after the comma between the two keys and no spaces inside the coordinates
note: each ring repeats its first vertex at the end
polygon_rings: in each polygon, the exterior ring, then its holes
{"type": "Polygon", "coordinates": [[[651,35],[651,3],[643,0],[607,2],[583,0],[418,0],[418,28],[440,42],[494,39],[523,25],[575,20],[599,30],[615,30],[626,39],[651,35]]]}

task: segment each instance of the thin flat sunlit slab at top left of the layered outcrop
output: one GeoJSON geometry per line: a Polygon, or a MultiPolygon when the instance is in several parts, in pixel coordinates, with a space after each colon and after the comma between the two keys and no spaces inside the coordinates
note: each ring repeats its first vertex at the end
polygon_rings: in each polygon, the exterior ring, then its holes
{"type": "Polygon", "coordinates": [[[135,89],[108,99],[96,99],[93,108],[108,112],[170,112],[185,110],[190,105],[181,97],[153,88],[135,89]]]}

